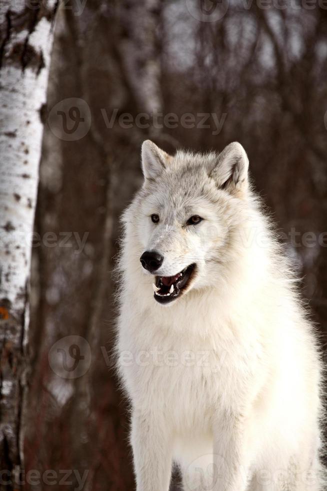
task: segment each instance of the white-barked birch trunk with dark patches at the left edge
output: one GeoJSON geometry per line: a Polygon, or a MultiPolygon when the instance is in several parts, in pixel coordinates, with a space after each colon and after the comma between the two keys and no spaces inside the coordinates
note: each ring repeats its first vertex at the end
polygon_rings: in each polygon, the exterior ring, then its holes
{"type": "Polygon", "coordinates": [[[7,490],[19,488],[23,470],[28,277],[56,8],[54,0],[0,7],[0,489],[7,490]]]}

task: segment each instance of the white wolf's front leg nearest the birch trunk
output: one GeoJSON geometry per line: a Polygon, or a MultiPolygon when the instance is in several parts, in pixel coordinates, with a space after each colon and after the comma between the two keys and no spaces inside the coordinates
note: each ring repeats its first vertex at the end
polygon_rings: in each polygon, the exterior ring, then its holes
{"type": "Polygon", "coordinates": [[[168,491],[171,435],[163,420],[134,412],[131,423],[136,491],[168,491]]]}

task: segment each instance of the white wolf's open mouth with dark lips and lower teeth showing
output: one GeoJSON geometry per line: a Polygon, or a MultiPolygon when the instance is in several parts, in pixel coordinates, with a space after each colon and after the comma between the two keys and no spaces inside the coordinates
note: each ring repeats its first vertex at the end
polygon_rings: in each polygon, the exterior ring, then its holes
{"type": "Polygon", "coordinates": [[[152,285],[155,300],[160,304],[175,300],[189,284],[194,271],[195,264],[191,264],[174,276],[156,276],[152,285]]]}

